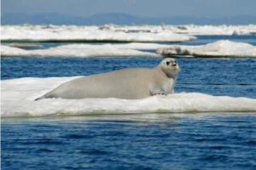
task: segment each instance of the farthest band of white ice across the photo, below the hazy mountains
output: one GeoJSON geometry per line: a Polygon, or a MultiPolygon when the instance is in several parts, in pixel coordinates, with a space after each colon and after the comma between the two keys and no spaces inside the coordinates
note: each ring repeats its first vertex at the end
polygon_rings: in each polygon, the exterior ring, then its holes
{"type": "Polygon", "coordinates": [[[252,35],[245,26],[1,26],[1,40],[24,42],[186,42],[199,35],[252,35]]]}

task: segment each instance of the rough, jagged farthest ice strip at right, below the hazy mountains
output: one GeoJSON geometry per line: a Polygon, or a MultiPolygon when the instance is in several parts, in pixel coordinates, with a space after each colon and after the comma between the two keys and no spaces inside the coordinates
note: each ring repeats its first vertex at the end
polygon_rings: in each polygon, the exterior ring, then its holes
{"type": "Polygon", "coordinates": [[[120,31],[120,32],[161,32],[172,31],[177,34],[192,35],[192,36],[231,36],[231,35],[252,35],[256,34],[256,25],[241,25],[241,26],[197,26],[197,25],[161,25],[161,26],[118,26],[105,25],[101,26],[102,30],[120,31]]]}

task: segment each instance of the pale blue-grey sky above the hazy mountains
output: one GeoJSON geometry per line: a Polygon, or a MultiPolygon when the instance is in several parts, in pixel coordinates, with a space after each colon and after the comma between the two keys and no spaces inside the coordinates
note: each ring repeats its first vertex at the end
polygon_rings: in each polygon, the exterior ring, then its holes
{"type": "Polygon", "coordinates": [[[5,13],[57,13],[87,17],[102,13],[137,16],[256,16],[256,0],[2,0],[5,13]]]}

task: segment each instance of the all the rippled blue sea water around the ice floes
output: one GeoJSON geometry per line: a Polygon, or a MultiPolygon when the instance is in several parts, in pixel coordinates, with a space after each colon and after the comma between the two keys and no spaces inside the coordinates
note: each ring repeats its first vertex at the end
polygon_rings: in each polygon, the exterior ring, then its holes
{"type": "MultiPolygon", "coordinates": [[[[253,36],[252,36],[253,37],[253,36]]],[[[225,37],[249,42],[250,36],[225,37]]],[[[204,44],[224,37],[199,37],[204,44]]],[[[45,48],[56,43],[42,43],[45,48]]],[[[70,77],[160,59],[3,58],[1,78],[70,77]]],[[[176,92],[256,98],[256,59],[177,58],[176,92]]],[[[149,105],[148,105],[149,106],[149,105]]],[[[256,113],[2,118],[3,169],[256,169],[256,113]]]]}

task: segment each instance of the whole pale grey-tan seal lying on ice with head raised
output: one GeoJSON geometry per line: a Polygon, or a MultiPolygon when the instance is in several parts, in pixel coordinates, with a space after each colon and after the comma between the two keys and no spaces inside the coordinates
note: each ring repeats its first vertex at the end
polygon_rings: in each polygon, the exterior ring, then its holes
{"type": "Polygon", "coordinates": [[[166,58],[154,68],[122,69],[64,82],[38,99],[142,99],[172,94],[179,70],[175,59],[166,58]]]}

